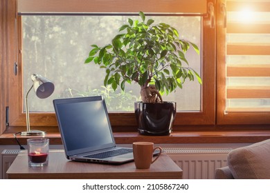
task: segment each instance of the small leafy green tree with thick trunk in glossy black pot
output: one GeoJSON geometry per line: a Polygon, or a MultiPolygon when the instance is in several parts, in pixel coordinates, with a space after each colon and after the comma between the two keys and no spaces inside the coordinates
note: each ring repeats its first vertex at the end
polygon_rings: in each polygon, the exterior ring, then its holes
{"type": "Polygon", "coordinates": [[[199,74],[189,67],[185,57],[189,48],[199,54],[194,43],[179,39],[175,28],[166,24],[154,24],[153,19],[142,21],[128,19],[119,29],[111,43],[99,47],[91,45],[85,63],[94,63],[105,68],[104,85],[114,90],[125,83],[141,86],[141,100],[135,102],[138,131],[141,134],[167,135],[172,130],[176,103],[165,102],[160,93],[169,94],[182,88],[186,79],[201,83],[199,74]]]}

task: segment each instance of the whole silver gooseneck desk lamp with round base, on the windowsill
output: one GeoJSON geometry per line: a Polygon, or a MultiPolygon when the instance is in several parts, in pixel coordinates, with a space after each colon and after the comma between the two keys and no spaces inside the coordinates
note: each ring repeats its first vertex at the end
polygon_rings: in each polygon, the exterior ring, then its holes
{"type": "Polygon", "coordinates": [[[53,91],[55,90],[55,85],[48,79],[42,77],[39,74],[32,74],[31,79],[33,81],[32,86],[26,93],[26,131],[21,132],[21,135],[45,135],[46,132],[42,132],[39,130],[30,130],[30,121],[29,121],[29,107],[28,107],[28,94],[32,88],[35,90],[35,94],[39,99],[46,99],[48,96],[51,96],[53,94],[53,91]]]}

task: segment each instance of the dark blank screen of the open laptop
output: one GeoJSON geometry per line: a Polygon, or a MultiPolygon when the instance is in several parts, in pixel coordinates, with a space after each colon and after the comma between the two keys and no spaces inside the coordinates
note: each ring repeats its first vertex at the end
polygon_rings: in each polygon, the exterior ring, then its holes
{"type": "Polygon", "coordinates": [[[53,103],[67,152],[83,153],[114,145],[105,101],[101,96],[55,99],[53,103]]]}

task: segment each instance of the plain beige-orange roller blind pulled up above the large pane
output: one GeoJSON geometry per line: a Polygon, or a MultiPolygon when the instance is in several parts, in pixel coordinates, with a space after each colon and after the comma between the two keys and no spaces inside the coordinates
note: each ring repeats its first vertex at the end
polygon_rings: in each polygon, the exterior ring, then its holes
{"type": "Polygon", "coordinates": [[[206,14],[206,0],[17,0],[20,14],[33,13],[192,13],[206,14]]]}

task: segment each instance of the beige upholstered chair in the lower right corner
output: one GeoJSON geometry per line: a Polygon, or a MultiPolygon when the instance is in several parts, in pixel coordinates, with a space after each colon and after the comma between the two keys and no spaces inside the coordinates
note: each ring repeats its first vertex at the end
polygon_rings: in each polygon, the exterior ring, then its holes
{"type": "Polygon", "coordinates": [[[215,179],[270,179],[270,139],[231,151],[215,179]]]}

